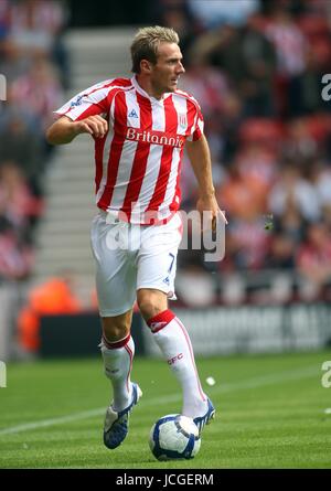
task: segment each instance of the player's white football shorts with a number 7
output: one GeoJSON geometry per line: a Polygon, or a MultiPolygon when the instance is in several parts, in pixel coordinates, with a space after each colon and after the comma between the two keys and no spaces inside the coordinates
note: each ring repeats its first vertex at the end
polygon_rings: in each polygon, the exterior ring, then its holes
{"type": "Polygon", "coordinates": [[[100,316],[120,316],[130,310],[140,288],[161,290],[175,299],[177,255],[182,238],[180,214],[166,225],[108,222],[109,215],[100,211],[90,232],[100,316]]]}

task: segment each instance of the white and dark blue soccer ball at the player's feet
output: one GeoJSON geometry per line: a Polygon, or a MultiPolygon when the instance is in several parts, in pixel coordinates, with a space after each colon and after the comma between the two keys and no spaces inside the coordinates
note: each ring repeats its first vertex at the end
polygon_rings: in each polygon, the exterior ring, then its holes
{"type": "Polygon", "coordinates": [[[180,414],[162,416],[150,430],[149,446],[158,460],[193,459],[201,446],[197,426],[180,414]]]}

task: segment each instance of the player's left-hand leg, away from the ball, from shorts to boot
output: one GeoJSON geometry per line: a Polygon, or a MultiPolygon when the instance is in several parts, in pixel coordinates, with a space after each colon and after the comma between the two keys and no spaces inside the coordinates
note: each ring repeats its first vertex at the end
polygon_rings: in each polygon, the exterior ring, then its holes
{"type": "Polygon", "coordinates": [[[113,387],[113,402],[106,410],[104,442],[116,448],[128,433],[128,418],[141,391],[130,381],[135,344],[130,335],[136,300],[136,269],[129,252],[115,247],[114,237],[125,233],[125,224],[108,224],[98,215],[92,227],[96,287],[103,324],[100,343],[105,374],[113,387]]]}

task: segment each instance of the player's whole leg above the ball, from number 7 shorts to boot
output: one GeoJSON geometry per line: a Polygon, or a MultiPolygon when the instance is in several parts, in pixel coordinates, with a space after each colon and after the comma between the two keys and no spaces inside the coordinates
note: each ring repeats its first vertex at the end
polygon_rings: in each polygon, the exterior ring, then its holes
{"type": "Polygon", "coordinates": [[[174,217],[166,226],[146,231],[148,247],[138,256],[137,301],[154,341],[182,386],[182,414],[194,418],[202,428],[215,410],[201,387],[189,333],[168,308],[168,297],[174,296],[178,228],[174,217]]]}

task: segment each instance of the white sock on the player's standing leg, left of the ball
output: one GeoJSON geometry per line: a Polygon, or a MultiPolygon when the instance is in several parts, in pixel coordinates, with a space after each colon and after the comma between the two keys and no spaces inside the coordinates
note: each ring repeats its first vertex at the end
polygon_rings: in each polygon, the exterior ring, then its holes
{"type": "Polygon", "coordinates": [[[105,374],[113,385],[114,410],[125,409],[131,402],[132,384],[130,374],[135,355],[135,343],[129,334],[127,338],[109,343],[103,337],[100,343],[105,365],[105,374]]]}

